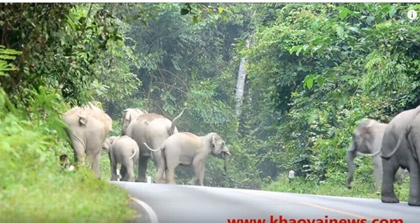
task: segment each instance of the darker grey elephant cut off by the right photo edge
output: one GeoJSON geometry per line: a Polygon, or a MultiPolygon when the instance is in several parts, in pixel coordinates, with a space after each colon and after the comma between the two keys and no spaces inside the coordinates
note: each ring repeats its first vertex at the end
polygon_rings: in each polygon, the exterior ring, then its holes
{"type": "Polygon", "coordinates": [[[384,132],[381,157],[381,201],[399,203],[393,187],[395,172],[399,167],[409,171],[409,206],[420,206],[420,106],[396,115],[384,132]]]}

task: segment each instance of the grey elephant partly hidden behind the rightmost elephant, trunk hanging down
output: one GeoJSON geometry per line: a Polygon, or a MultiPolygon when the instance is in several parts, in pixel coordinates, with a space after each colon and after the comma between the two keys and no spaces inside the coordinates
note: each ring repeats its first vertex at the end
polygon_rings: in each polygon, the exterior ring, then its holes
{"type": "MultiPolygon", "coordinates": [[[[365,157],[372,157],[374,164],[374,190],[377,191],[382,181],[382,160],[378,155],[381,152],[382,137],[387,124],[377,122],[376,120],[363,119],[353,131],[353,137],[349,150],[346,152],[346,161],[349,166],[347,175],[347,187],[351,188],[351,181],[354,175],[354,159],[356,154],[365,157]]],[[[399,168],[396,178],[402,183],[402,173],[404,170],[399,168]]]]}

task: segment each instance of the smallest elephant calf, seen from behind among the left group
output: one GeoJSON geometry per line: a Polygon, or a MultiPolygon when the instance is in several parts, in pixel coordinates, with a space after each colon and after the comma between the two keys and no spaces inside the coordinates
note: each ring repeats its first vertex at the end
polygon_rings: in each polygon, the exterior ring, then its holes
{"type": "Polygon", "coordinates": [[[139,145],[128,136],[111,136],[104,148],[108,150],[111,164],[111,180],[118,179],[117,164],[121,164],[121,181],[134,182],[134,166],[139,161],[139,145]]]}

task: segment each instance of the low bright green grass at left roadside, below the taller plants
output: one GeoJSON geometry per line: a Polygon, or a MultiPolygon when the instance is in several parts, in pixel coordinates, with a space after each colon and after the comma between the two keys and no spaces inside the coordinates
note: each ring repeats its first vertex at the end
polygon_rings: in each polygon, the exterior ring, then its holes
{"type": "Polygon", "coordinates": [[[128,196],[88,170],[36,173],[0,195],[0,222],[123,222],[134,215],[128,196]]]}

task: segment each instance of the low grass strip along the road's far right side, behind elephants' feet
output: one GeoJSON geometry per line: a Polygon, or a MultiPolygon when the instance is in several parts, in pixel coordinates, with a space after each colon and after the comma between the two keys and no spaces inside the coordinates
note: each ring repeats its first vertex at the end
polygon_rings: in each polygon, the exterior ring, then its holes
{"type": "MultiPolygon", "coordinates": [[[[402,185],[395,184],[395,194],[400,201],[408,199],[409,178],[405,175],[402,185]]],[[[288,182],[288,178],[279,178],[276,182],[262,187],[263,190],[272,192],[290,192],[298,194],[317,194],[327,196],[349,196],[367,199],[381,199],[380,189],[373,191],[373,185],[370,182],[354,182],[353,188],[348,189],[342,182],[333,182],[332,180],[317,185],[316,182],[295,178],[288,182]]]]}

